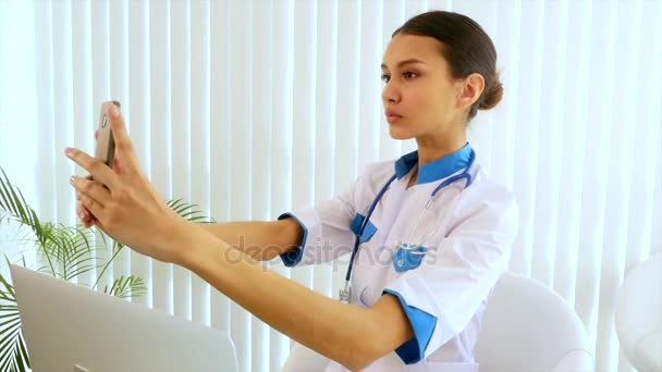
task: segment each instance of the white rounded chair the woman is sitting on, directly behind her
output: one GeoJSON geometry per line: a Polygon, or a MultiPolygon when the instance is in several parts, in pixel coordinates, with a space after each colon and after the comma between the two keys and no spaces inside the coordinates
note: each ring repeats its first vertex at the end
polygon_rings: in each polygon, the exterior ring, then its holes
{"type": "MultiPolygon", "coordinates": [[[[486,307],[475,357],[481,372],[593,371],[579,317],[542,284],[511,273],[486,307]]],[[[296,344],[283,371],[322,371],[328,360],[296,344]]]]}

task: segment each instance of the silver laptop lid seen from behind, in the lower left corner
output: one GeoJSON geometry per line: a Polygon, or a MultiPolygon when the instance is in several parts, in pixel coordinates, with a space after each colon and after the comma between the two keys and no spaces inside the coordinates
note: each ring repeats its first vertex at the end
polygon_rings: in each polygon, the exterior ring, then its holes
{"type": "Polygon", "coordinates": [[[236,371],[225,332],[10,266],[35,372],[236,371]]]}

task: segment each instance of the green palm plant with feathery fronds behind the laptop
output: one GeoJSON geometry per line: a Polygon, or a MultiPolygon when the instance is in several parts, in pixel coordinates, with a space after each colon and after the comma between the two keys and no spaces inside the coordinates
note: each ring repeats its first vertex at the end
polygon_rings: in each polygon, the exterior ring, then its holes
{"type": "MultiPolygon", "coordinates": [[[[96,281],[91,286],[95,290],[120,298],[139,297],[146,293],[145,282],[136,275],[120,276],[110,288],[98,288],[101,277],[124,245],[113,240],[109,250],[111,239],[96,227],[88,230],[81,225],[41,222],[2,168],[0,172],[0,228],[2,224],[19,227],[22,235],[15,241],[30,245],[28,250],[37,256],[37,271],[64,281],[95,271],[96,281]],[[101,244],[94,244],[95,238],[100,238],[101,244]]],[[[191,222],[213,222],[196,209],[198,206],[185,203],[182,199],[170,200],[168,206],[191,222]]],[[[8,265],[11,263],[7,256],[4,261],[8,265]]],[[[25,266],[24,255],[21,261],[25,266]]],[[[0,371],[26,371],[29,368],[14,288],[0,274],[0,371]]]]}

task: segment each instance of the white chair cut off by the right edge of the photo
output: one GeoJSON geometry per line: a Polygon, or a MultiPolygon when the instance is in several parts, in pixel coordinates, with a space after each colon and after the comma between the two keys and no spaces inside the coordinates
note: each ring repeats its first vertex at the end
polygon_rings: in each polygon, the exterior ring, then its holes
{"type": "Polygon", "coordinates": [[[662,371],[662,253],[633,268],[616,295],[621,348],[638,371],[662,371]]]}

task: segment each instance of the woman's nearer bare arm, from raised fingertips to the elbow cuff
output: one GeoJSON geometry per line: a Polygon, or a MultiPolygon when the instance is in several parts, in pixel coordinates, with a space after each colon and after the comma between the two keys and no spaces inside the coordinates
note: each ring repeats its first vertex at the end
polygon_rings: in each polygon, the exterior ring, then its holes
{"type": "MultiPolygon", "coordinates": [[[[395,297],[384,295],[370,309],[339,302],[265,269],[186,222],[168,208],[140,171],[119,109],[110,106],[107,114],[119,172],[83,151],[65,150],[97,181],[70,179],[82,206],[106,234],[143,255],[188,268],[267,324],[350,369],[364,368],[413,337],[395,297]]],[[[270,238],[266,232],[260,238],[270,238]]],[[[282,243],[297,244],[294,235],[284,234],[292,240],[282,243]]],[[[258,241],[256,236],[252,238],[258,241]]]]}

